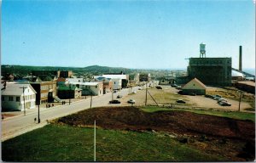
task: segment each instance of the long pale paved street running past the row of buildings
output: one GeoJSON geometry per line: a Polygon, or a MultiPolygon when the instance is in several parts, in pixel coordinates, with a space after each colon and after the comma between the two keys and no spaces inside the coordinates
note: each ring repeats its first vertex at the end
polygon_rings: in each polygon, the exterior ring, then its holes
{"type": "MultiPolygon", "coordinates": [[[[133,87],[132,91],[137,91],[137,87],[133,87]]],[[[118,94],[125,96],[129,93],[128,88],[120,90],[118,93],[113,93],[113,98],[116,98],[118,94]]],[[[112,93],[104,94],[103,96],[96,96],[92,98],[92,107],[106,106],[112,99],[112,93]]],[[[86,110],[90,108],[90,98],[82,99],[72,104],[65,104],[55,106],[51,108],[44,108],[40,110],[40,120],[34,121],[34,118],[38,118],[38,108],[30,110],[26,115],[17,115],[2,121],[2,141],[9,138],[14,138],[25,132],[32,131],[38,127],[45,126],[47,121],[55,118],[70,115],[80,110],[86,110]]]]}

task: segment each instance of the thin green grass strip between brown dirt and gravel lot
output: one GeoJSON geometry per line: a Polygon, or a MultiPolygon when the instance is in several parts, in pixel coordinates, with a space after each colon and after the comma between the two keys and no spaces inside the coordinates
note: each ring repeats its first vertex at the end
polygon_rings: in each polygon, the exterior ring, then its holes
{"type": "Polygon", "coordinates": [[[215,115],[215,116],[222,116],[227,118],[234,118],[237,120],[250,120],[255,122],[255,114],[254,113],[246,113],[246,112],[238,112],[238,111],[221,111],[221,110],[189,110],[189,109],[168,109],[168,108],[161,108],[157,106],[147,106],[141,107],[143,111],[147,112],[154,112],[160,110],[182,110],[182,111],[190,111],[196,114],[203,114],[203,115],[215,115]]]}

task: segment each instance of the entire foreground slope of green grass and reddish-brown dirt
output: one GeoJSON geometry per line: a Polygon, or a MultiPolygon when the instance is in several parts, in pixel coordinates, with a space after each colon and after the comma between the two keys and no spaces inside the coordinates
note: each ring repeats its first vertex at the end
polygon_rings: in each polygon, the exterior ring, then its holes
{"type": "Polygon", "coordinates": [[[2,160],[93,161],[95,120],[97,161],[254,160],[255,123],[244,121],[253,117],[212,110],[99,107],[3,142],[2,160]]]}

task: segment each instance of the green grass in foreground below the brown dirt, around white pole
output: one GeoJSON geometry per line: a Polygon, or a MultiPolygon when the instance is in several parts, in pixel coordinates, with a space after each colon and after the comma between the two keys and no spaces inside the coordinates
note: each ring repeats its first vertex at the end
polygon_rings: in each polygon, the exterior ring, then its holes
{"type": "MultiPolygon", "coordinates": [[[[48,125],[2,143],[3,161],[93,161],[93,129],[48,125]]],[[[96,129],[96,161],[227,160],[152,132],[96,129]]]]}

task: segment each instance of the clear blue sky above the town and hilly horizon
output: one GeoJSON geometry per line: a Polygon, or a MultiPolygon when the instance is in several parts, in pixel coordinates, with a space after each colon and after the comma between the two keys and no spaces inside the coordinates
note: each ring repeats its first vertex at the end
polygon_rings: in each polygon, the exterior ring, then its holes
{"type": "Polygon", "coordinates": [[[255,4],[247,1],[3,0],[2,65],[186,69],[188,58],[255,67],[255,4]]]}

